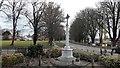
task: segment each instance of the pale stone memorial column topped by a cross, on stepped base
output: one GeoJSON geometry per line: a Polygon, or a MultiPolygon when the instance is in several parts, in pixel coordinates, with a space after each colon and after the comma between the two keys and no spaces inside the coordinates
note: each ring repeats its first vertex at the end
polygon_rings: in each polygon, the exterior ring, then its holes
{"type": "Polygon", "coordinates": [[[66,16],[66,19],[67,19],[67,24],[66,24],[66,45],[62,49],[62,56],[58,58],[58,59],[60,59],[60,61],[64,65],[72,64],[72,61],[75,59],[73,57],[73,49],[71,49],[70,46],[69,46],[69,25],[68,25],[68,18],[69,17],[70,16],[67,14],[67,16],[66,16]]]}

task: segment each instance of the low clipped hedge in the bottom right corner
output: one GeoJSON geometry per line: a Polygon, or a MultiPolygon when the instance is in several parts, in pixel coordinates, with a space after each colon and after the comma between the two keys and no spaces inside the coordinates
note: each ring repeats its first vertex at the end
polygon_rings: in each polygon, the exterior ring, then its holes
{"type": "Polygon", "coordinates": [[[107,68],[119,68],[120,67],[120,56],[100,56],[99,61],[102,65],[107,68]]]}

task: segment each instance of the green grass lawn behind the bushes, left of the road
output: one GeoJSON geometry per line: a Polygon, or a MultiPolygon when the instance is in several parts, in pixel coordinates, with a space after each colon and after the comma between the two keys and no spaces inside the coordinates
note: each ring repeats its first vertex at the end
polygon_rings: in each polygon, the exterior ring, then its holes
{"type": "MultiPolygon", "coordinates": [[[[11,40],[0,41],[0,43],[2,43],[2,49],[8,49],[8,48],[10,48],[11,40]]],[[[55,42],[55,43],[58,46],[64,46],[63,43],[60,43],[60,42],[55,42]]],[[[15,48],[26,48],[32,44],[33,44],[33,41],[15,41],[14,47],[15,48]]],[[[44,47],[49,47],[48,41],[37,41],[37,44],[42,44],[42,45],[44,45],[44,47]]]]}

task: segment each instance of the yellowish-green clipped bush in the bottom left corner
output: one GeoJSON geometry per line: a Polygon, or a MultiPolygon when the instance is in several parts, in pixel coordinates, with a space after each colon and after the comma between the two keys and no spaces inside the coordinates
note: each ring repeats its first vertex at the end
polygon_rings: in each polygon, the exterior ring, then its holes
{"type": "Polygon", "coordinates": [[[11,66],[24,61],[24,56],[22,53],[6,54],[2,56],[2,66],[11,66]]]}

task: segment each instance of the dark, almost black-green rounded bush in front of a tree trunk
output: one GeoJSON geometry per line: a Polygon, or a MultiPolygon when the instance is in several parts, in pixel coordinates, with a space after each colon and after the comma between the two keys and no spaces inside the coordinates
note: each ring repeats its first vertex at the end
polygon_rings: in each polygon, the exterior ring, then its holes
{"type": "Polygon", "coordinates": [[[43,46],[40,44],[31,45],[28,47],[27,56],[29,57],[39,57],[39,55],[44,55],[43,46]]]}

